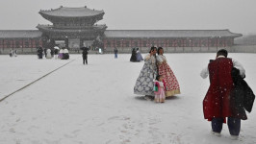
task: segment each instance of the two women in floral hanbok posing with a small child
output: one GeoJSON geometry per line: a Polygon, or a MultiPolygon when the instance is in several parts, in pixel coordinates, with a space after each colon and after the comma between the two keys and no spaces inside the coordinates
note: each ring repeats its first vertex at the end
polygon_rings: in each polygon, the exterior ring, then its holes
{"type": "Polygon", "coordinates": [[[134,93],[161,103],[165,102],[166,97],[180,94],[180,85],[167,64],[162,47],[151,47],[149,54],[145,56],[134,93]]]}

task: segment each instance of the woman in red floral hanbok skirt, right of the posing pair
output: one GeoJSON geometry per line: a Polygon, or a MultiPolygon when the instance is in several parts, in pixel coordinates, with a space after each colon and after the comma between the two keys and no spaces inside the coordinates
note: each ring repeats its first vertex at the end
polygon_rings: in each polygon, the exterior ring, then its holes
{"type": "Polygon", "coordinates": [[[180,94],[180,85],[167,64],[166,57],[163,54],[164,49],[159,47],[157,56],[158,74],[162,75],[164,78],[166,84],[166,97],[170,97],[175,94],[180,94]]]}

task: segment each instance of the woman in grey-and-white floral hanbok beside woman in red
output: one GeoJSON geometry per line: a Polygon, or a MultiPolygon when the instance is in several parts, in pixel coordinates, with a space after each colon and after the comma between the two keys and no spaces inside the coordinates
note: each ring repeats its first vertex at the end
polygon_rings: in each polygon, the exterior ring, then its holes
{"type": "Polygon", "coordinates": [[[157,76],[156,53],[157,48],[151,47],[149,54],[144,58],[144,65],[134,86],[134,93],[145,95],[147,100],[153,100],[155,96],[153,80],[157,76]]]}

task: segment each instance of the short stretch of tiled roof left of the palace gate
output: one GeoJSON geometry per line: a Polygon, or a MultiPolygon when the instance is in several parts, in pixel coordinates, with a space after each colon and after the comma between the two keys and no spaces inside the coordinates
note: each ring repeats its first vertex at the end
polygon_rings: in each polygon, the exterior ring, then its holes
{"type": "Polygon", "coordinates": [[[41,34],[38,30],[0,30],[0,38],[35,38],[41,34]]]}

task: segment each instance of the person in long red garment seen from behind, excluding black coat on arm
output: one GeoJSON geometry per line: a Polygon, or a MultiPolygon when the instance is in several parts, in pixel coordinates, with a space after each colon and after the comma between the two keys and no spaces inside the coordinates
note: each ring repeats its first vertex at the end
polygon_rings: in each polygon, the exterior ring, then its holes
{"type": "Polygon", "coordinates": [[[223,123],[226,123],[233,138],[238,138],[241,129],[241,119],[236,118],[230,106],[230,94],[233,89],[232,68],[240,70],[244,77],[243,65],[237,60],[227,58],[227,51],[221,49],[216,60],[210,60],[208,67],[201,71],[201,77],[209,75],[210,86],[203,100],[204,118],[212,122],[212,132],[220,136],[223,123]]]}

